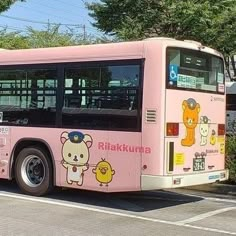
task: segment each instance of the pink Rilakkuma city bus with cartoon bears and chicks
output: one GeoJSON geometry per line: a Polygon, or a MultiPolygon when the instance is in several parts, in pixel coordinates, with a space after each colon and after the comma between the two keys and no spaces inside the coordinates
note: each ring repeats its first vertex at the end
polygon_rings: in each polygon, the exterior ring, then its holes
{"type": "Polygon", "coordinates": [[[220,53],[152,38],[0,52],[0,178],[40,196],[223,181],[220,53]]]}

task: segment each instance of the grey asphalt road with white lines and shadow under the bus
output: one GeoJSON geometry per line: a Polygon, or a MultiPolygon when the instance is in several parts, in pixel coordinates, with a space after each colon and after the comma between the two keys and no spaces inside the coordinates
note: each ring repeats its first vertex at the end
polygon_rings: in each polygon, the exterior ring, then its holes
{"type": "Polygon", "coordinates": [[[22,195],[0,181],[0,236],[236,235],[236,195],[178,189],[22,195]]]}

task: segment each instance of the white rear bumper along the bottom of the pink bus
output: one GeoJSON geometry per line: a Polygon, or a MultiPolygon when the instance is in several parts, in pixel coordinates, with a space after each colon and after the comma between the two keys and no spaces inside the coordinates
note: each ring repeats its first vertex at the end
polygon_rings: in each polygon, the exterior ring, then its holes
{"type": "Polygon", "coordinates": [[[228,170],[172,176],[141,175],[141,190],[179,188],[200,184],[209,184],[217,181],[224,181],[228,178],[228,170]]]}

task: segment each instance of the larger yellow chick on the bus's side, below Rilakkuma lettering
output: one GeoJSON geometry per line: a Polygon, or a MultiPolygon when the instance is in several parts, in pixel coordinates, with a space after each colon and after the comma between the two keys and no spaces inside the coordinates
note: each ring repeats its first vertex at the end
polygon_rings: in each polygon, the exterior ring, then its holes
{"type": "Polygon", "coordinates": [[[96,175],[96,180],[100,182],[100,186],[103,186],[103,184],[108,186],[108,183],[112,181],[115,170],[112,170],[111,164],[102,158],[93,169],[93,173],[96,175]]]}

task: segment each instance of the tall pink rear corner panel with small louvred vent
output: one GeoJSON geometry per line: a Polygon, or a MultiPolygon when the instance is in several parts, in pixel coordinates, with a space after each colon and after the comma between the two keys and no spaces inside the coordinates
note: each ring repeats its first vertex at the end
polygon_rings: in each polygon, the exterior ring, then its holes
{"type": "Polygon", "coordinates": [[[163,175],[164,141],[164,92],[163,73],[165,62],[161,44],[145,45],[145,67],[142,109],[142,144],[148,147],[142,155],[142,175],[163,175]]]}

